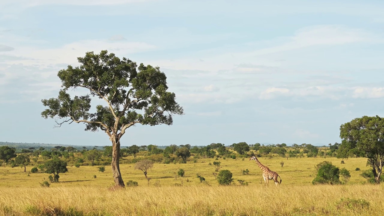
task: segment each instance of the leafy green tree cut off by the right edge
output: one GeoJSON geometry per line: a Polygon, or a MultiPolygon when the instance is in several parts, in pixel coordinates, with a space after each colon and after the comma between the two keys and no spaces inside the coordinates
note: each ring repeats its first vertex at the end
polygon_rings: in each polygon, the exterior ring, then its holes
{"type": "Polygon", "coordinates": [[[340,126],[341,145],[337,156],[354,154],[367,158],[372,166],[376,183],[384,166],[384,119],[379,116],[362,116],[340,126]]]}

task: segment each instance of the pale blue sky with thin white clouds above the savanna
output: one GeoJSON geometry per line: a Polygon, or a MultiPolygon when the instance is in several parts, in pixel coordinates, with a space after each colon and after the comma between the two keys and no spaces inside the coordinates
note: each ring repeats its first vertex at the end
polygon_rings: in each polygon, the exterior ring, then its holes
{"type": "Polygon", "coordinates": [[[5,0],[0,140],[111,145],[53,128],[41,99],[57,72],[108,50],[160,66],[185,115],[129,128],[122,145],[339,142],[339,126],[383,115],[382,1],[5,0]]]}

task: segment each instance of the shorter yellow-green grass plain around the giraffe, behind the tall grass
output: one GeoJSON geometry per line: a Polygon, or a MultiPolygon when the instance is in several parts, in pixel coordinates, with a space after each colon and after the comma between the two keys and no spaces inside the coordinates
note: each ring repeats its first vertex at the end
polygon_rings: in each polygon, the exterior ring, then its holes
{"type": "MultiPolygon", "coordinates": [[[[351,173],[351,179],[349,182],[353,183],[366,183],[366,179],[359,176],[364,170],[369,169],[366,167],[365,158],[349,158],[345,160],[345,164],[341,164],[341,159],[338,158],[286,158],[273,157],[268,159],[266,157],[259,158],[260,162],[265,166],[268,166],[271,170],[276,171],[280,176],[283,185],[289,184],[311,184],[314,176],[316,175],[316,170],[314,166],[324,160],[331,161],[334,165],[339,168],[345,167],[351,173]],[[284,162],[284,167],[282,168],[280,162],[284,162]],[[360,168],[360,171],[355,171],[356,168],[360,168]]],[[[202,175],[205,180],[211,185],[218,185],[215,177],[212,173],[215,172],[214,165],[209,165],[209,163],[214,162],[212,158],[198,159],[197,163],[189,161],[187,164],[161,164],[155,163],[154,167],[148,171],[148,177],[152,178],[150,184],[154,184],[156,180],[160,181],[162,185],[174,185],[175,183],[181,183],[179,179],[183,180],[185,185],[200,185],[200,181],[196,178],[196,174],[199,173],[202,175]],[[185,171],[184,178],[178,178],[175,180],[174,176],[177,171],[182,168],[185,171]],[[189,182],[186,182],[187,179],[189,182]]],[[[262,183],[262,171],[257,166],[255,161],[249,161],[248,158],[245,158],[243,161],[240,159],[230,159],[227,158],[223,160],[220,158],[221,162],[220,170],[228,169],[232,172],[233,178],[237,183],[237,179],[245,180],[250,185],[262,183]],[[248,169],[250,173],[248,175],[243,175],[242,170],[248,169]]],[[[27,172],[31,170],[33,166],[27,166],[27,172]]],[[[147,180],[144,177],[144,174],[140,170],[134,169],[134,164],[121,164],[120,165],[122,177],[124,181],[133,180],[137,181],[140,186],[147,185],[147,180]]],[[[0,188],[2,187],[40,187],[39,182],[43,181],[43,178],[48,179],[49,174],[47,173],[30,173],[28,176],[27,173],[23,172],[23,168],[14,167],[0,167],[0,188]]],[[[270,182],[271,183],[271,182],[270,182]]],[[[273,181],[272,181],[273,183],[273,181]]],[[[67,173],[60,174],[60,183],[51,184],[51,187],[60,187],[60,186],[110,186],[114,184],[112,179],[112,172],[110,166],[106,166],[104,173],[98,171],[98,166],[80,166],[76,168],[75,166],[68,166],[67,173]],[[94,178],[93,175],[96,175],[97,178],[94,178]]]]}

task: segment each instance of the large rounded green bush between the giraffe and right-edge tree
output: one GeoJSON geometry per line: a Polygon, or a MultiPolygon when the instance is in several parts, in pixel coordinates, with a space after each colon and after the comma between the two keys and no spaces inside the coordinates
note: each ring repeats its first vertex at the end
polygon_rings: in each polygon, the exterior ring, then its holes
{"type": "Polygon", "coordinates": [[[317,174],[312,184],[340,184],[339,168],[329,161],[323,161],[316,165],[317,174]]]}

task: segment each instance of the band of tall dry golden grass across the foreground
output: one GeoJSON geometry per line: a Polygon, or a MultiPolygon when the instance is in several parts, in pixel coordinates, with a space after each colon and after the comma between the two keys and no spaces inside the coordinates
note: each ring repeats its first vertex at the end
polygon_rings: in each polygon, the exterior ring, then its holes
{"type": "Polygon", "coordinates": [[[0,215],[383,215],[382,185],[1,188],[0,215]]]}

